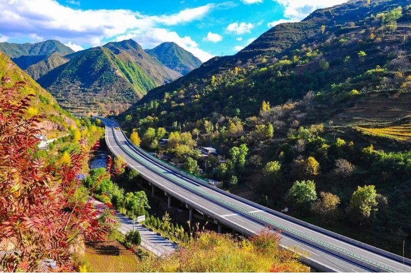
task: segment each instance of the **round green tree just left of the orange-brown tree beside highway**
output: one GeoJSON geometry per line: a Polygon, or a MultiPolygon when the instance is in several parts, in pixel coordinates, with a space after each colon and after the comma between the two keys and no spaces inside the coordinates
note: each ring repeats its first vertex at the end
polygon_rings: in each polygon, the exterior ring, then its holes
{"type": "Polygon", "coordinates": [[[286,199],[301,212],[306,212],[317,199],[314,181],[295,181],[288,191],[286,199]]]}

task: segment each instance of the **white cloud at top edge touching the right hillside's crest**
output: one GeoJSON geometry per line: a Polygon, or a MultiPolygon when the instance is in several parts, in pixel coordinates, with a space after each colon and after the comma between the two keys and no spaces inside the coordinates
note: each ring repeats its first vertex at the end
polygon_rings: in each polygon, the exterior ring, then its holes
{"type": "Polygon", "coordinates": [[[301,21],[316,9],[343,4],[348,0],[273,0],[285,7],[284,17],[301,21]]]}

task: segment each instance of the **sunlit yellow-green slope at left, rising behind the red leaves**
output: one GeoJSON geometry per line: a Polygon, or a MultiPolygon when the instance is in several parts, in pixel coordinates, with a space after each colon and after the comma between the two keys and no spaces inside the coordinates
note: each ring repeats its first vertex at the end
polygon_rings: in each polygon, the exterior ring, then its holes
{"type": "Polygon", "coordinates": [[[69,125],[76,126],[71,115],[62,110],[57,101],[29,75],[13,63],[5,53],[0,51],[0,78],[6,76],[12,83],[24,81],[27,84],[22,89],[22,97],[33,94],[31,106],[28,108],[28,116],[45,115],[46,119],[38,126],[43,132],[67,131],[69,125]]]}

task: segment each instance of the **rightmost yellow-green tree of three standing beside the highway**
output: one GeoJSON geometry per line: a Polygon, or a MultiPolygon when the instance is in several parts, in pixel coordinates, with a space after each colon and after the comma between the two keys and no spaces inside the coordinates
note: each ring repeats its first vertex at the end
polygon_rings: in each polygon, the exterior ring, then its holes
{"type": "Polygon", "coordinates": [[[377,190],[375,186],[358,186],[351,196],[350,205],[348,210],[352,213],[353,217],[357,218],[360,222],[368,219],[372,213],[377,212],[377,190]]]}

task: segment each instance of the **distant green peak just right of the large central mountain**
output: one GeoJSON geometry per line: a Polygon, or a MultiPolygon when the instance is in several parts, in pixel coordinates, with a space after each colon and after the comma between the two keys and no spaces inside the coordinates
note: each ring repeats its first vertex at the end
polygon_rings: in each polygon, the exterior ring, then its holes
{"type": "Polygon", "coordinates": [[[176,43],[162,43],[153,49],[146,49],[145,51],[157,58],[163,65],[180,72],[182,75],[188,74],[202,64],[191,52],[183,49],[176,43]]]}

